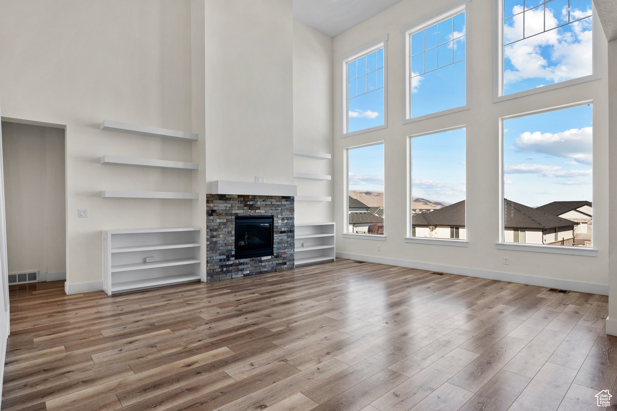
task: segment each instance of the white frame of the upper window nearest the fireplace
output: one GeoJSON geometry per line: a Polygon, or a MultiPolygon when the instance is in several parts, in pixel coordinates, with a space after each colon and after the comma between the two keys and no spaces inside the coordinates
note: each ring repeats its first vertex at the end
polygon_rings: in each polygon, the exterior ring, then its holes
{"type": "Polygon", "coordinates": [[[350,52],[342,54],[339,57],[339,62],[341,63],[341,89],[342,89],[342,109],[341,109],[341,118],[342,118],[342,128],[341,128],[341,138],[357,136],[358,134],[363,134],[365,132],[371,132],[376,130],[381,130],[387,128],[387,34],[383,35],[379,38],[376,38],[373,41],[369,41],[363,46],[357,47],[350,52]],[[384,49],[384,123],[381,126],[375,126],[371,128],[365,128],[358,131],[347,132],[349,126],[349,107],[347,106],[349,93],[347,92],[347,86],[349,85],[347,81],[347,75],[349,71],[347,71],[347,63],[353,62],[357,59],[362,59],[365,55],[369,55],[374,51],[379,49],[384,49]]]}

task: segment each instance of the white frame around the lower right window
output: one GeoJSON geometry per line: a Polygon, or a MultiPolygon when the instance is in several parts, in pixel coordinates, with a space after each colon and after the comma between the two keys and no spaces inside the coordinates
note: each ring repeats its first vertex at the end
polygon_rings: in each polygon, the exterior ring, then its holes
{"type": "MultiPolygon", "coordinates": [[[[532,112],[520,113],[510,116],[503,116],[499,118],[499,232],[497,238],[499,241],[496,243],[498,250],[516,250],[516,251],[534,251],[537,253],[552,253],[552,254],[570,254],[575,256],[589,256],[596,257],[598,250],[590,247],[574,247],[569,245],[545,245],[545,244],[532,244],[532,243],[506,243],[503,238],[503,230],[505,230],[505,207],[503,205],[503,198],[505,197],[505,174],[503,173],[503,122],[505,120],[511,120],[513,118],[521,118],[534,114],[555,112],[562,110],[563,108],[580,107],[581,105],[594,104],[594,100],[585,100],[577,103],[558,105],[557,107],[542,108],[541,110],[534,110],[532,112]]],[[[592,153],[593,155],[593,153],[592,153]]],[[[595,162],[595,161],[594,161],[595,162]]],[[[592,168],[593,169],[593,168],[592,168]]],[[[595,173],[592,173],[592,179],[595,179],[595,173]]],[[[592,184],[592,198],[593,198],[594,184],[592,184]]],[[[592,232],[592,244],[594,234],[592,232]]]]}

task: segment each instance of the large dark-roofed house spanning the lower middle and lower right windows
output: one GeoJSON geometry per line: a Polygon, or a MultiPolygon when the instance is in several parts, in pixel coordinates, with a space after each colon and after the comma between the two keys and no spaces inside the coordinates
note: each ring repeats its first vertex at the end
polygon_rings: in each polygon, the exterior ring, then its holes
{"type": "MultiPolygon", "coordinates": [[[[504,200],[504,241],[573,245],[578,223],[514,201],[504,200]]],[[[412,217],[412,237],[465,238],[465,200],[412,217]]]]}

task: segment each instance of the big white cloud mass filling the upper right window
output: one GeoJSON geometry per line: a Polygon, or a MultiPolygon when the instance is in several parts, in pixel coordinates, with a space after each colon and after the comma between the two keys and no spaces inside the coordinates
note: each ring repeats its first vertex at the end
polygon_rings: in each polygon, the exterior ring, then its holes
{"type": "MultiPolygon", "coordinates": [[[[514,7],[514,11],[522,11],[522,6],[514,7]]],[[[563,13],[563,10],[561,12],[563,13]]],[[[579,16],[577,18],[588,15],[587,12],[574,12],[574,14],[579,16]]],[[[543,7],[524,13],[526,35],[542,32],[543,15],[543,7]]],[[[523,33],[523,14],[516,15],[511,20],[510,25],[503,26],[503,38],[506,44],[520,39],[523,33]]],[[[546,28],[556,27],[560,23],[563,21],[559,22],[558,18],[553,15],[553,10],[547,7],[546,28]]],[[[514,67],[514,70],[506,70],[503,73],[503,82],[506,85],[528,78],[542,78],[558,83],[590,75],[592,73],[590,19],[570,23],[565,28],[545,31],[542,34],[508,44],[503,52],[504,57],[510,59],[514,67]],[[567,28],[571,28],[571,31],[566,31],[567,28]],[[549,61],[545,57],[549,57],[549,61]]]]}

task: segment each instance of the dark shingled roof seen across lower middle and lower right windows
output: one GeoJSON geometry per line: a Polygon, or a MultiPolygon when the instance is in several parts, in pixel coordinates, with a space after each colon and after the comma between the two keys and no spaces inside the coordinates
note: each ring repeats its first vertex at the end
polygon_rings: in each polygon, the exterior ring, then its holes
{"type": "MultiPolygon", "coordinates": [[[[514,229],[550,229],[576,226],[578,222],[545,213],[537,208],[503,200],[505,206],[505,227],[514,229]]],[[[458,201],[431,213],[414,214],[414,226],[465,226],[465,200],[458,201]]]]}

